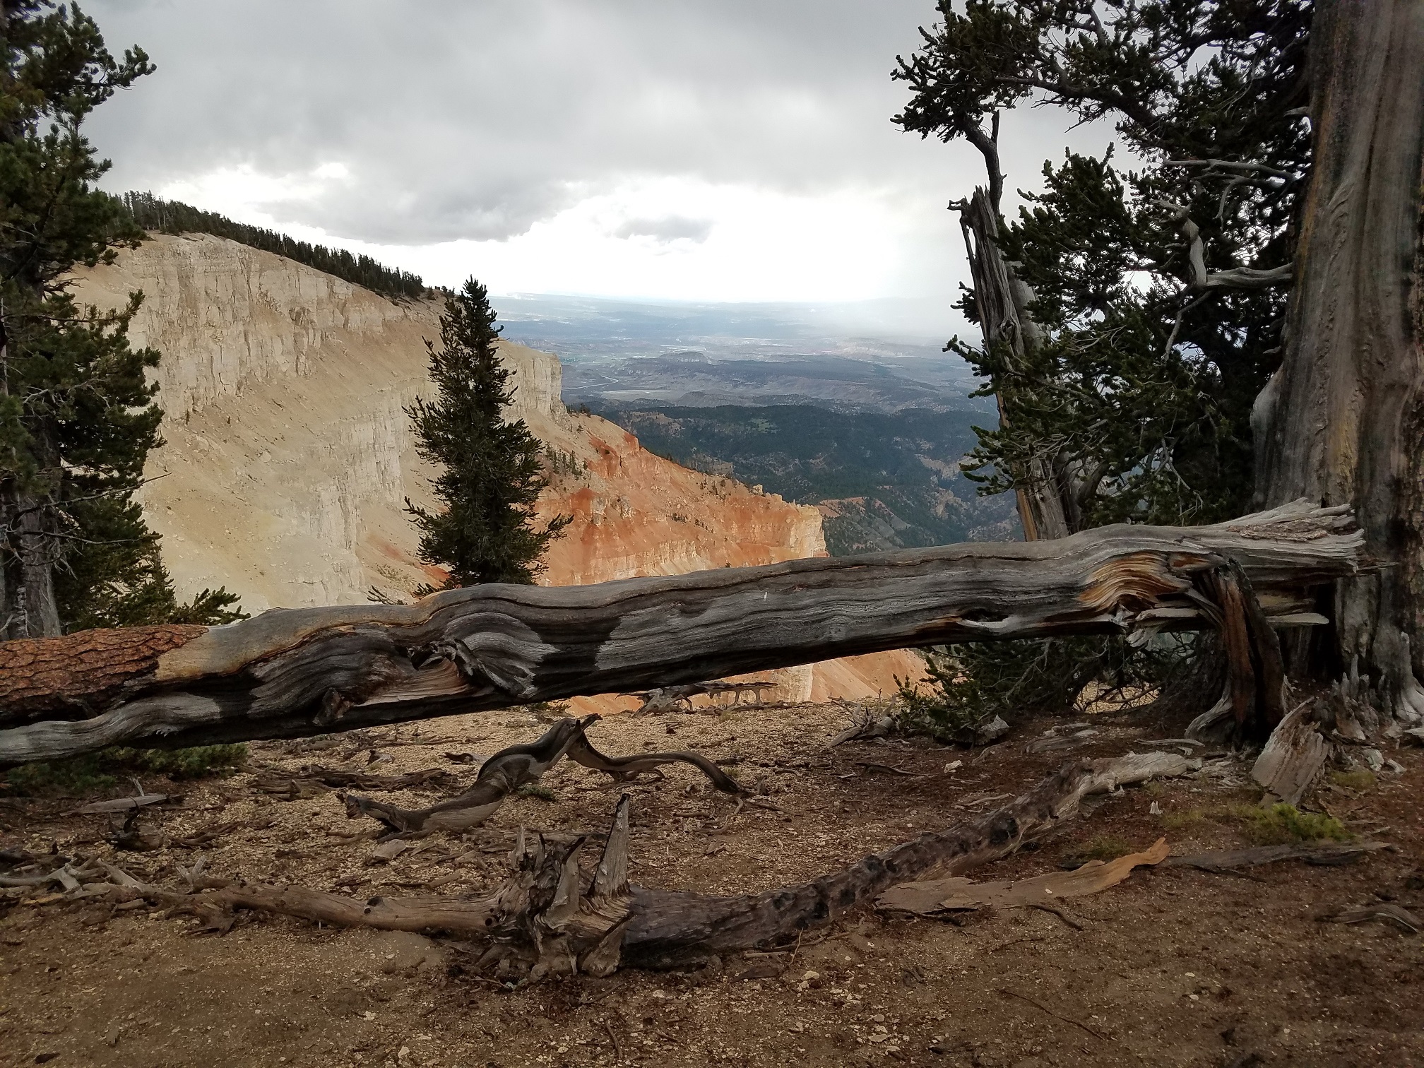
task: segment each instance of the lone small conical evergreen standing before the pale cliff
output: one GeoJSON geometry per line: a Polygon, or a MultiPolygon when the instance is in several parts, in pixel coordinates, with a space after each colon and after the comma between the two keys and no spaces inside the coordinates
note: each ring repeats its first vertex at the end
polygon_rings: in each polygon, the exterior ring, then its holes
{"type": "Polygon", "coordinates": [[[406,511],[422,531],[420,558],[450,571],[446,588],[533,582],[544,550],[570,523],[534,523],[534,503],[547,484],[543,447],[523,419],[504,420],[514,390],[498,359],[494,318],[484,286],[473,278],[446,299],[440,349],[426,342],[436,397],[417,399],[406,410],[417,451],[443,467],[431,486],[444,511],[409,498],[406,511]]]}

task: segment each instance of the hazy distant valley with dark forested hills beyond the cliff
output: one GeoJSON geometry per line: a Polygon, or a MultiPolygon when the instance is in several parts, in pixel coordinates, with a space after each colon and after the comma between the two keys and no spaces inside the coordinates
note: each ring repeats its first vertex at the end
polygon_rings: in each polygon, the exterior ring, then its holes
{"type": "Polygon", "coordinates": [[[815,506],[833,554],[1017,538],[1012,500],[980,497],[958,464],[993,402],[940,342],[870,310],[521,298],[501,319],[560,353],[565,404],[815,506]]]}

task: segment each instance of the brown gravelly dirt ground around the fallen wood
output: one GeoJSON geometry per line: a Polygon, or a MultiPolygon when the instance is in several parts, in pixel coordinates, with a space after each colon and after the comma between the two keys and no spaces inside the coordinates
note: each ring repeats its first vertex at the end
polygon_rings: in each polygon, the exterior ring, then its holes
{"type": "MultiPolygon", "coordinates": [[[[386,775],[443,766],[467,782],[473,765],[446,753],[484,758],[544,726],[521,712],[386,729],[367,735],[383,758],[369,768],[372,746],[339,738],[325,749],[255,745],[245,772],[172,786],[184,799],[152,817],[168,840],[155,852],[117,852],[104,840],[110,817],[64,816],[77,805],[64,799],[0,803],[0,846],[95,853],[171,886],[181,884],[175,866],[201,853],[219,876],[362,897],[476,894],[501,879],[521,824],[602,829],[625,787],[565,763],[545,776],[553,802],[514,799],[463,842],[431,836],[375,863],[372,837],[346,837],[365,823],[346,819],[335,792],[282,800],[253,780],[322,763],[386,775]],[[229,826],[201,847],[172,842],[229,826]]],[[[732,799],[682,766],[634,786],[632,879],[712,893],[806,880],[981,813],[1067,759],[1141,752],[1159,736],[1148,723],[1099,722],[1085,748],[1025,753],[1042,722],[977,753],[927,740],[826,749],[843,726],[844,712],[827,706],[597,723],[590,738],[608,753],[732,758],[731,769],[775,805],[735,813],[732,799]],[[954,760],[963,763],[947,769],[954,760]]],[[[1404,770],[1320,793],[1350,830],[1394,846],[1350,866],[1139,869],[1064,903],[1081,930],[1038,910],[974,914],[964,926],[866,911],[807,933],[795,953],[689,974],[621,971],[511,991],[471,974],[470,951],[440,938],[252,914],[226,936],[198,936],[192,917],[147,906],[6,890],[0,1064],[1424,1065],[1424,936],[1316,918],[1378,900],[1424,914],[1424,753],[1384,755],[1404,770]]],[[[1162,834],[1173,853],[1246,844],[1229,806],[1256,799],[1247,773],[1246,762],[1218,759],[1195,778],[1122,790],[975,877],[1051,871],[1162,834]]],[[[416,807],[441,792],[393,796],[416,807]]]]}

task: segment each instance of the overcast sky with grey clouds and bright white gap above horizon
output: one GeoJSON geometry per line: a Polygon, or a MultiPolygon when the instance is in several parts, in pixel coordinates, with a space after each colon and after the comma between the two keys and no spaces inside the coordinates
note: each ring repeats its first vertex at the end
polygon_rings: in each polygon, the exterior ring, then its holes
{"type": "MultiPolygon", "coordinates": [[[[91,120],[114,191],[494,292],[947,305],[965,272],[978,155],[890,122],[930,0],[84,7],[158,66],[91,120]]],[[[1010,185],[1065,141],[1010,117],[1010,185]]]]}

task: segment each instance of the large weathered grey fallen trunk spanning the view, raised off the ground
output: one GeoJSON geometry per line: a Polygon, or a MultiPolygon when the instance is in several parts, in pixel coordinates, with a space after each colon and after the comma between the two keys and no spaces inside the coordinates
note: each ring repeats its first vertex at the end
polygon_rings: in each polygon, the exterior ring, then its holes
{"type": "Polygon", "coordinates": [[[181,644],[157,655],[145,629],[131,672],[105,658],[93,688],[83,651],[111,646],[114,632],[9,642],[0,766],[120,743],[296,738],[906,646],[1202,629],[1218,624],[1206,578],[1233,565],[1270,625],[1317,622],[1310,588],[1358,570],[1350,525],[1346,508],[1302,501],[1212,527],[1114,525],[587,587],[490,584],[414,605],[273,609],[165,634],[181,644]],[[50,642],[67,642],[73,664],[56,666],[61,646],[50,642]],[[36,664],[67,672],[63,685],[16,681],[36,664]]]}

